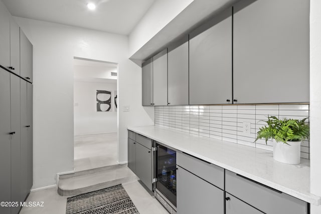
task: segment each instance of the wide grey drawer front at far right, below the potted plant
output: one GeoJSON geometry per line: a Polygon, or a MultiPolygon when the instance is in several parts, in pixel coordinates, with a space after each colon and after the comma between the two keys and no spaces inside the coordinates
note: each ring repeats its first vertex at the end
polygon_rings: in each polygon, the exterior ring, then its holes
{"type": "Polygon", "coordinates": [[[307,203],[225,170],[225,190],[267,214],[306,214],[307,203]]]}

